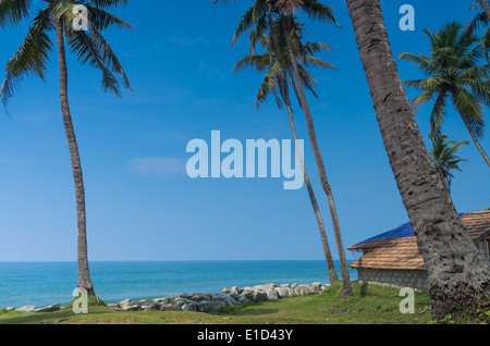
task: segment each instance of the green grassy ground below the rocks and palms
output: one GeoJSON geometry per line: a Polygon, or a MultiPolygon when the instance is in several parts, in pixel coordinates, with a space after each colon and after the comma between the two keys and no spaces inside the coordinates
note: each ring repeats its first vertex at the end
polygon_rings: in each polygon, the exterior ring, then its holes
{"type": "Polygon", "coordinates": [[[427,324],[429,297],[415,295],[415,313],[403,314],[400,291],[376,285],[353,284],[354,295],[342,298],[342,285],[319,295],[296,296],[274,301],[233,306],[213,313],[184,311],[119,312],[90,306],[88,314],[70,308],[57,312],[27,313],[0,310],[0,324],[427,324]]]}

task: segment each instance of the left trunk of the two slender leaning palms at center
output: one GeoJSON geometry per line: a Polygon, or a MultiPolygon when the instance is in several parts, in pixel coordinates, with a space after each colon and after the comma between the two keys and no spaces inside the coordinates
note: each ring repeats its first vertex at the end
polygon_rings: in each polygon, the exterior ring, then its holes
{"type": "Polygon", "coordinates": [[[284,86],[284,103],[286,104],[287,115],[290,118],[291,132],[293,133],[294,145],[296,148],[299,164],[302,166],[303,176],[305,180],[306,188],[308,190],[309,200],[311,201],[311,207],[314,209],[315,217],[317,218],[318,227],[320,230],[321,244],[323,246],[323,254],[324,254],[324,258],[327,260],[327,269],[329,272],[330,284],[333,284],[339,281],[339,276],[336,274],[336,269],[335,269],[335,264],[333,262],[332,252],[330,251],[330,245],[329,245],[329,240],[327,238],[327,233],[324,231],[324,224],[323,224],[323,219],[321,218],[320,208],[318,208],[317,198],[315,197],[315,191],[313,189],[311,182],[309,181],[308,173],[306,172],[305,161],[303,159],[303,153],[299,148],[299,143],[297,140],[296,127],[294,125],[294,119],[293,119],[293,110],[291,108],[291,101],[290,101],[290,96],[289,96],[289,91],[287,91],[287,76],[285,76],[285,73],[284,73],[283,78],[284,78],[284,84],[285,84],[285,86],[284,86]]]}

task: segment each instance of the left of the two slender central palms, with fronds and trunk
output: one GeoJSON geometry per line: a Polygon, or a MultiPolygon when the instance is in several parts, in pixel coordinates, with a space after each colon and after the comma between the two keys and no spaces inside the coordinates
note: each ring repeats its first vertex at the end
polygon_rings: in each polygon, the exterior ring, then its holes
{"type": "MultiPolygon", "coordinates": [[[[336,274],[332,254],[330,251],[330,245],[329,245],[329,240],[327,238],[327,233],[324,231],[324,224],[323,224],[323,220],[321,217],[321,212],[318,207],[318,202],[317,202],[315,191],[311,186],[311,182],[309,180],[308,173],[305,168],[303,152],[302,152],[299,144],[298,144],[296,128],[294,125],[293,109],[292,109],[291,100],[290,100],[290,96],[289,96],[290,91],[289,91],[289,83],[287,83],[287,81],[289,81],[287,76],[291,76],[291,73],[292,73],[291,72],[291,62],[289,61],[289,55],[284,53],[284,51],[285,51],[284,47],[283,47],[284,46],[284,44],[283,44],[284,36],[282,36],[281,32],[280,30],[278,32],[278,29],[273,30],[273,28],[271,28],[271,32],[273,32],[273,34],[271,33],[272,35],[265,35],[264,33],[260,33],[256,29],[250,33],[249,39],[250,39],[250,44],[252,44],[250,45],[252,54],[241,59],[236,63],[234,71],[236,72],[248,65],[255,67],[259,72],[267,71],[267,73],[265,75],[265,79],[264,79],[262,84],[260,85],[259,91],[257,94],[257,98],[256,98],[257,109],[260,108],[260,104],[266,102],[267,99],[269,98],[269,96],[271,96],[271,95],[273,95],[275,97],[278,107],[280,109],[282,108],[282,103],[284,103],[286,106],[287,115],[289,115],[289,120],[290,120],[290,126],[291,126],[291,131],[293,134],[294,143],[295,143],[296,153],[297,153],[297,157],[299,160],[299,165],[302,168],[302,172],[303,172],[306,188],[308,190],[308,196],[309,196],[309,199],[311,202],[311,207],[314,209],[315,217],[317,219],[318,227],[320,231],[320,237],[321,237],[321,242],[322,242],[322,246],[323,246],[324,257],[327,260],[327,269],[328,269],[328,273],[329,273],[330,283],[333,284],[336,281],[339,281],[339,276],[336,274]],[[274,35],[278,35],[280,37],[274,38],[274,35]],[[272,39],[274,39],[274,44],[272,44],[272,39]],[[266,50],[265,53],[261,53],[261,54],[253,53],[255,50],[255,46],[258,44],[260,44],[265,48],[265,50],[266,50]],[[280,46],[280,44],[282,44],[281,45],[282,49],[280,49],[278,47],[278,46],[280,46]]],[[[321,50],[330,50],[330,47],[322,42],[307,42],[305,45],[305,49],[306,49],[306,51],[310,52],[313,55],[317,52],[320,52],[321,50]]],[[[308,57],[298,55],[297,59],[305,61],[305,62],[309,62],[316,66],[324,67],[324,69],[333,67],[329,63],[321,61],[311,55],[308,55],[308,57]]],[[[314,84],[316,84],[316,81],[306,71],[305,66],[301,65],[301,69],[302,69],[302,71],[304,71],[304,74],[302,75],[302,77],[303,77],[302,82],[305,85],[309,86],[309,89],[316,96],[315,91],[311,88],[311,86],[314,84]]],[[[290,81],[292,81],[292,79],[290,79],[290,81]]]]}

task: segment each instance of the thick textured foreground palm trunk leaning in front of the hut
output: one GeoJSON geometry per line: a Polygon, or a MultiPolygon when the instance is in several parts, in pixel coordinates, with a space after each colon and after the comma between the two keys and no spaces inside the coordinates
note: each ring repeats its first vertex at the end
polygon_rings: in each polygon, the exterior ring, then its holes
{"type": "Polygon", "coordinates": [[[394,178],[428,271],[432,317],[475,313],[490,268],[432,166],[390,48],[379,0],[346,0],[394,178]]]}

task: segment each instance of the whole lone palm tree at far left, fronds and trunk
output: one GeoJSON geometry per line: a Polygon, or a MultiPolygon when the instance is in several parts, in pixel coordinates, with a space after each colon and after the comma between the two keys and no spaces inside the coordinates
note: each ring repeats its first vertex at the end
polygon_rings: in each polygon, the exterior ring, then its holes
{"type": "Polygon", "coordinates": [[[33,0],[0,1],[0,26],[7,28],[17,25],[34,16],[29,25],[27,37],[17,52],[7,63],[7,76],[0,88],[0,98],[7,108],[10,98],[26,76],[38,76],[45,81],[45,72],[49,53],[53,48],[50,34],[56,33],[58,61],[60,69],[60,103],[64,128],[70,148],[72,171],[76,196],[77,219],[77,263],[78,287],[85,288],[90,296],[95,296],[94,285],[88,267],[87,224],[85,211],[85,188],[82,163],[78,153],[75,131],[68,98],[68,66],[65,57],[65,39],[71,52],[83,63],[102,72],[102,89],[121,95],[121,78],[126,88],[131,88],[127,76],[117,55],[106,41],[101,32],[109,26],[131,28],[131,25],[106,10],[117,5],[126,5],[127,0],[49,0],[46,7],[33,10],[33,0]],[[72,23],[75,4],[83,4],[88,10],[89,30],[74,30],[72,23]]]}

